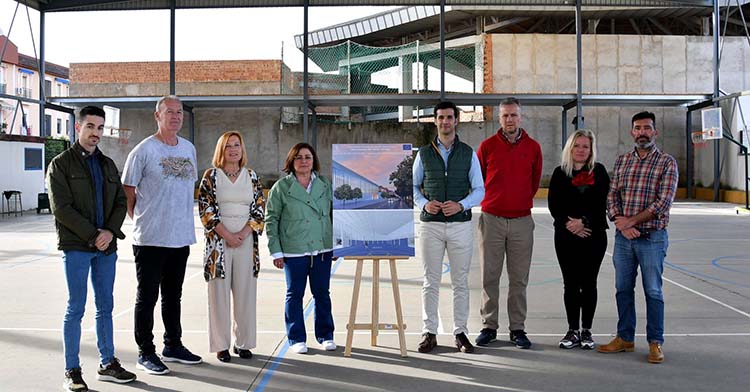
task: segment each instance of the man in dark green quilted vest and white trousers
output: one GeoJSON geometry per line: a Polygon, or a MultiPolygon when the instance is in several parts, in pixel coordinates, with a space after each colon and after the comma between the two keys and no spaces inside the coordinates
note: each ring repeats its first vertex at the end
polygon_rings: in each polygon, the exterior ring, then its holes
{"type": "Polygon", "coordinates": [[[422,211],[419,236],[422,285],[422,342],[419,352],[437,346],[438,301],[443,257],[448,251],[453,287],[453,335],[456,348],[474,352],[466,334],[469,318],[469,267],[474,239],[471,207],[484,197],[484,182],[474,150],[458,140],[458,108],[441,102],[434,110],[437,137],[414,159],[414,202],[422,211]]]}

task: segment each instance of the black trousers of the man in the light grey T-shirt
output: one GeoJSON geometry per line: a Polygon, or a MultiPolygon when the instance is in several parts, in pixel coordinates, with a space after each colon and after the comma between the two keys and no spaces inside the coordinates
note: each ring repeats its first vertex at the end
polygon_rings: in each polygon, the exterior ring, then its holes
{"type": "Polygon", "coordinates": [[[138,290],[135,297],[135,342],[142,355],[153,354],[154,307],[161,289],[164,345],[182,345],[180,301],[190,247],[163,248],[133,245],[138,290]]]}

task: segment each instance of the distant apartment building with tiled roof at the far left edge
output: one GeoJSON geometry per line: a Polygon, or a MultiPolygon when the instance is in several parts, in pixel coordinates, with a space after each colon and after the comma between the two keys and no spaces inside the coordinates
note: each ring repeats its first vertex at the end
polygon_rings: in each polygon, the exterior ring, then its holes
{"type": "MultiPolygon", "coordinates": [[[[44,124],[39,124],[39,105],[8,96],[40,99],[39,62],[33,56],[18,53],[13,41],[0,35],[0,129],[6,134],[25,136],[66,137],[70,129],[68,114],[46,109],[44,124]],[[14,121],[15,119],[15,121],[14,121]]],[[[45,62],[44,90],[46,97],[67,97],[70,93],[70,72],[61,65],[45,62]]]]}

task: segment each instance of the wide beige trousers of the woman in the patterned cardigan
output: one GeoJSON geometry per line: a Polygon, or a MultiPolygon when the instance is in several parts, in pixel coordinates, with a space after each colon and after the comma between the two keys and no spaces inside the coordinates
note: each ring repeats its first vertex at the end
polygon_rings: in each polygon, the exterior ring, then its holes
{"type": "Polygon", "coordinates": [[[229,350],[232,330],[235,345],[250,350],[255,348],[257,329],[258,278],[253,276],[253,236],[245,238],[239,248],[225,248],[224,262],[226,278],[208,282],[209,351],[229,350]]]}

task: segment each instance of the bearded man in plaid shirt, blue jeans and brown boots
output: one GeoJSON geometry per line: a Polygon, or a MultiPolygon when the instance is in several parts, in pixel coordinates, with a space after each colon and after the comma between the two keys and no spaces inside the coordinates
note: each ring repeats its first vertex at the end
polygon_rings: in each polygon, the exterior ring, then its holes
{"type": "Polygon", "coordinates": [[[677,190],[677,161],[654,143],[656,116],[641,112],[633,116],[630,134],[635,148],[615,162],[607,196],[607,215],[615,223],[617,289],[617,336],[602,353],[633,351],[635,344],[635,278],[641,268],[646,294],[646,339],[648,361],[664,361],[664,298],[661,275],[667,254],[669,209],[677,190]]]}

